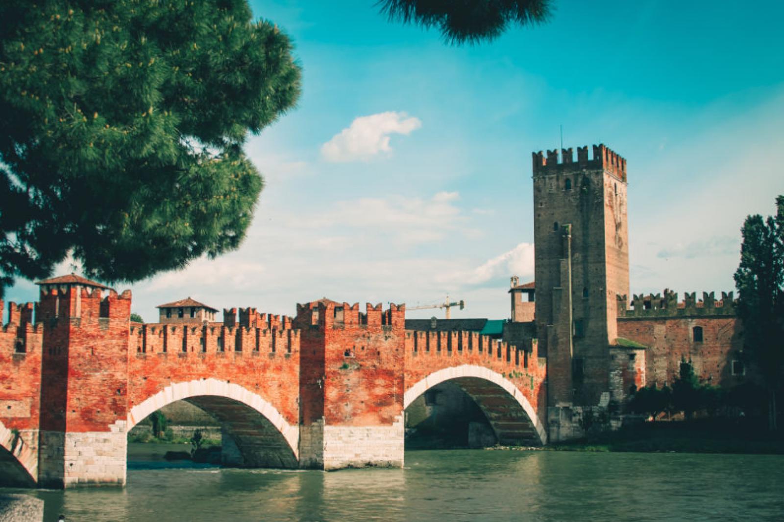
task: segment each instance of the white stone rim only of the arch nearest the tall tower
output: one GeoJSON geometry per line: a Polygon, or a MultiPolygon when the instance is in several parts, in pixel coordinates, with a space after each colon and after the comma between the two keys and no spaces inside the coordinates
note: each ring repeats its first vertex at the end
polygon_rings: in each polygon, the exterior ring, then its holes
{"type": "Polygon", "coordinates": [[[507,394],[523,409],[526,416],[528,416],[528,420],[530,420],[532,426],[535,429],[536,436],[539,438],[540,444],[547,443],[547,430],[544,427],[541,419],[536,414],[536,410],[533,408],[528,399],[525,398],[525,395],[522,391],[520,391],[514,383],[510,380],[506,379],[506,377],[502,376],[500,373],[495,373],[491,369],[487,369],[483,366],[477,365],[460,365],[460,366],[452,366],[450,368],[440,369],[435,371],[434,373],[430,373],[430,375],[426,376],[423,380],[420,380],[418,383],[415,383],[412,387],[408,388],[405,391],[404,396],[404,404],[403,408],[408,408],[411,403],[419,397],[419,395],[425,393],[430,388],[436,386],[437,384],[443,383],[448,380],[460,380],[460,379],[481,379],[486,380],[490,383],[495,384],[497,387],[506,391],[507,394]]]}

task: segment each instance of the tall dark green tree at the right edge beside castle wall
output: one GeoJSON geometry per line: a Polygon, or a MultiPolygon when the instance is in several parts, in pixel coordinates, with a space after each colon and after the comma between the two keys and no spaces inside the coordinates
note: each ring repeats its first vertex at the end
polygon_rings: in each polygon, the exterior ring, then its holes
{"type": "Polygon", "coordinates": [[[743,321],[744,350],[768,387],[768,424],[777,427],[776,391],[784,366],[784,196],[775,218],[746,218],[735,285],[743,321]]]}

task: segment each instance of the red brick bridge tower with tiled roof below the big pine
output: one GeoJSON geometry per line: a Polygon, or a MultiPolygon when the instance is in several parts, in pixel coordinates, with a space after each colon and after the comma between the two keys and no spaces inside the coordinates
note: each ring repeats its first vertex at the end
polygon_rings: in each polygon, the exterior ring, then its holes
{"type": "Polygon", "coordinates": [[[43,323],[38,484],[125,484],[131,293],[118,296],[78,275],[38,285],[36,319],[43,323]]]}

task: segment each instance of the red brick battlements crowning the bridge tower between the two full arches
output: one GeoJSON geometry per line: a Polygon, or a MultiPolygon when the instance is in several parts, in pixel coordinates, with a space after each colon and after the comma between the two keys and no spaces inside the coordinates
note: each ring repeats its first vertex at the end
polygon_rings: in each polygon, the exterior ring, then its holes
{"type": "Polygon", "coordinates": [[[359,303],[339,303],[321,299],[296,305],[294,324],[303,326],[346,327],[346,326],[391,326],[405,328],[405,304],[390,303],[383,309],[379,304],[365,304],[365,313],[359,311],[359,303]]]}

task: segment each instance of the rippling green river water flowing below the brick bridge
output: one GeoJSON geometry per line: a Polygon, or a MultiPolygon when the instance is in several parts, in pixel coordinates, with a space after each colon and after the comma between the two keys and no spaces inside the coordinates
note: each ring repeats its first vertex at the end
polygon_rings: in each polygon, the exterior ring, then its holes
{"type": "Polygon", "coordinates": [[[402,470],[324,473],[177,467],[160,459],[172,447],[131,446],[126,488],[27,491],[46,522],[784,520],[784,455],[417,451],[402,470]]]}

